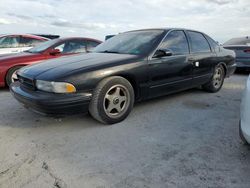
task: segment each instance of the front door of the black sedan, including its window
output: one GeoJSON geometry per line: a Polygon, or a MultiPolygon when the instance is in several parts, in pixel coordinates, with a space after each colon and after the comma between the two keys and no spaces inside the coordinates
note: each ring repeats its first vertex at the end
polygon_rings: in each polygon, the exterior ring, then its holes
{"type": "Polygon", "coordinates": [[[172,55],[149,60],[149,97],[192,87],[193,64],[188,61],[190,52],[184,31],[168,33],[158,49],[169,50],[172,55]]]}

